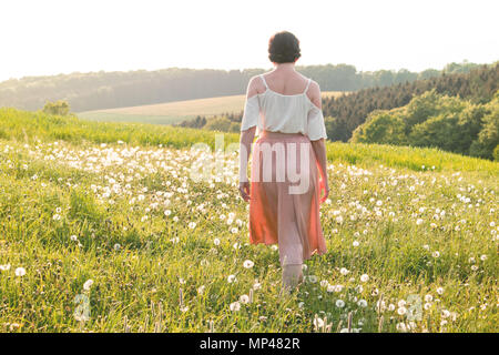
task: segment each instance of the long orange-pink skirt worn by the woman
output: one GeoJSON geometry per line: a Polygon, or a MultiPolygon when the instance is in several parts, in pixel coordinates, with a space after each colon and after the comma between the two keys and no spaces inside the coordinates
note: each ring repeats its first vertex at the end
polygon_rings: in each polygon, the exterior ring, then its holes
{"type": "Polygon", "coordinates": [[[282,265],[301,264],[327,252],[318,163],[308,136],[264,134],[252,150],[249,242],[278,244],[282,265]]]}

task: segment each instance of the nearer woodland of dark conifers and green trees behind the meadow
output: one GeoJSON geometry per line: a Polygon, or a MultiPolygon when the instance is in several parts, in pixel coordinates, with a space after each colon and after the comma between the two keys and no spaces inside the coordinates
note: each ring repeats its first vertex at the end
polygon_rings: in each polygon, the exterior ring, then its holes
{"type": "MultiPolygon", "coordinates": [[[[327,135],[332,141],[435,146],[497,159],[498,83],[496,63],[469,72],[323,98],[327,135]]],[[[238,132],[243,113],[198,115],[177,125],[238,132]]]]}

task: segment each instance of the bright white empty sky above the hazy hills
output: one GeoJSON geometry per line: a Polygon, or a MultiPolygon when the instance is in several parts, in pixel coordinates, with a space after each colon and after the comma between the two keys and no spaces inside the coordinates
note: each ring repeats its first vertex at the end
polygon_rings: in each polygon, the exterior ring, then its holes
{"type": "Polygon", "coordinates": [[[272,69],[293,32],[298,65],[441,69],[499,60],[497,0],[1,0],[0,81],[170,67],[272,69]]]}

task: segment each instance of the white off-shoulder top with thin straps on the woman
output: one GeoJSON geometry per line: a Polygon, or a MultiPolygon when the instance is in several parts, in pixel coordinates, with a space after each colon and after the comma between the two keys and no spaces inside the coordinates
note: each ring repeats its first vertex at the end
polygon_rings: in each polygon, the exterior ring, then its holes
{"type": "Polygon", "coordinates": [[[246,98],[241,131],[256,125],[257,135],[265,130],[303,133],[310,141],[327,139],[323,111],[306,94],[310,79],[308,79],[303,93],[284,95],[271,90],[263,74],[259,78],[265,84],[266,91],[249,99],[246,98]]]}

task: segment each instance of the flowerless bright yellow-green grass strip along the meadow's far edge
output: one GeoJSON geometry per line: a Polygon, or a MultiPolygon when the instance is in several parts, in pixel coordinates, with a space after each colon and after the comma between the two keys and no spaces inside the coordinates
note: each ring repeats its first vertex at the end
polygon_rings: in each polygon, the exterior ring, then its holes
{"type": "MultiPolygon", "coordinates": [[[[141,123],[104,123],[79,120],[77,118],[50,116],[41,112],[0,109],[0,138],[18,141],[64,140],[74,144],[82,142],[116,143],[143,146],[159,145],[190,148],[202,142],[215,148],[216,134],[222,134],[225,145],[237,143],[240,134],[208,132],[205,130],[159,126],[141,123]]],[[[478,174],[497,176],[499,163],[464,156],[437,149],[408,148],[383,144],[327,142],[329,161],[342,161],[359,166],[384,164],[407,168],[414,171],[472,171],[478,174]],[[425,166],[425,168],[422,168],[425,166]]]]}

